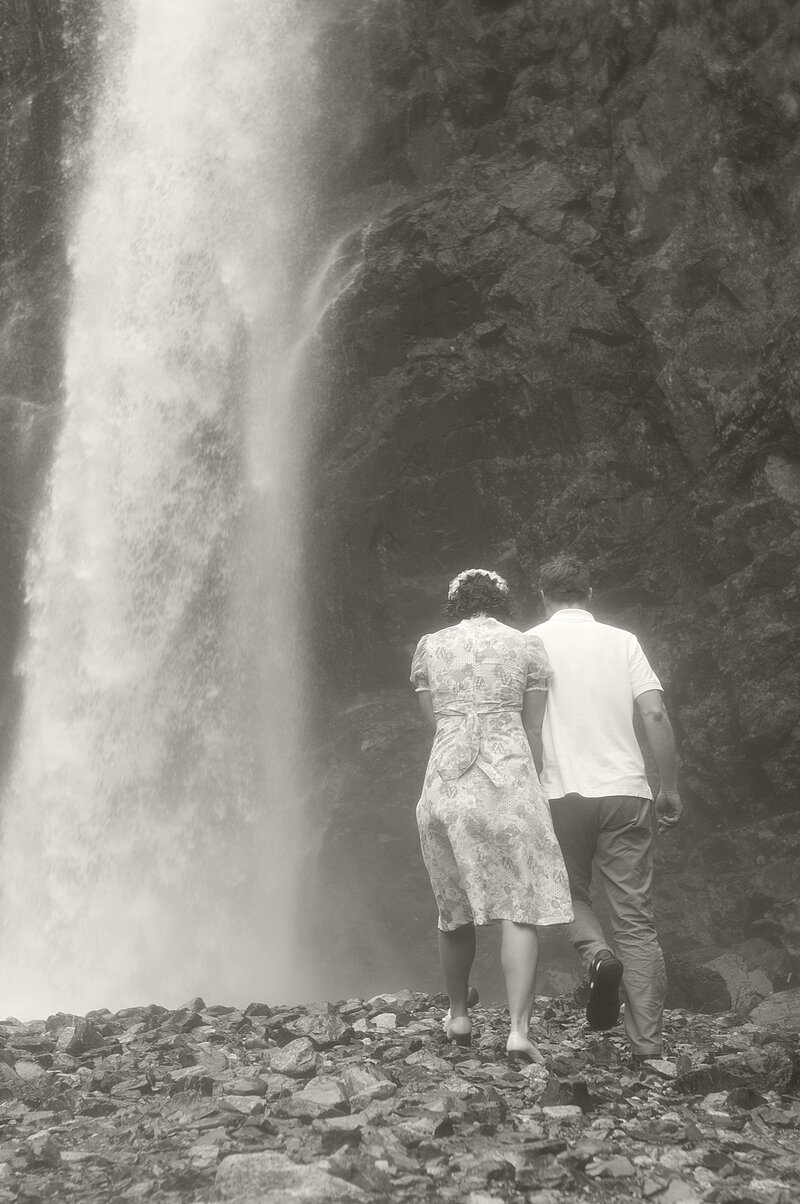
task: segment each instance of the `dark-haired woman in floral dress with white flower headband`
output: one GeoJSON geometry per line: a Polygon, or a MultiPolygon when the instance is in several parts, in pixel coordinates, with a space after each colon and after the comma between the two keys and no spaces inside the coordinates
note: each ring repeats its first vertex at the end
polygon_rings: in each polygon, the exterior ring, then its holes
{"type": "Polygon", "coordinates": [[[469,1045],[475,926],[502,923],[511,1058],[541,1062],[529,1039],[537,925],[572,919],[570,887],[539,783],[551,667],[537,636],[506,626],[507,583],[470,568],[451,582],[455,626],[423,636],[411,680],[431,730],[417,824],[439,907],[449,1040],[469,1045]]]}

